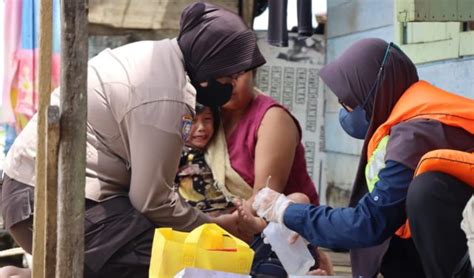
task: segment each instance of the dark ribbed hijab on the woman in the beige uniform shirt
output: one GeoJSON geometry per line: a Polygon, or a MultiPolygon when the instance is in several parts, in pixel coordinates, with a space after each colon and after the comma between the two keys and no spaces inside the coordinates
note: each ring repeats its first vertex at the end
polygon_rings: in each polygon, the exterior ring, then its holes
{"type": "Polygon", "coordinates": [[[208,3],[194,3],[184,9],[178,44],[193,83],[230,76],[266,62],[255,34],[243,20],[208,3]]]}

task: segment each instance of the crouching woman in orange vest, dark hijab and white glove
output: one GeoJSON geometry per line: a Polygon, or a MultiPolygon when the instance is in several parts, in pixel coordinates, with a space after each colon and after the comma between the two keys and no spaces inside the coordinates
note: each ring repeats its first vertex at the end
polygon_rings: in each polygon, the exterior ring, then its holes
{"type": "Polygon", "coordinates": [[[419,81],[413,62],[380,39],[356,42],[320,75],[343,106],[343,129],[364,140],[350,207],[292,204],[264,188],[257,214],[314,245],[350,249],[354,276],[451,277],[467,251],[460,222],[474,167],[414,176],[433,150],[472,156],[474,101],[419,81]]]}

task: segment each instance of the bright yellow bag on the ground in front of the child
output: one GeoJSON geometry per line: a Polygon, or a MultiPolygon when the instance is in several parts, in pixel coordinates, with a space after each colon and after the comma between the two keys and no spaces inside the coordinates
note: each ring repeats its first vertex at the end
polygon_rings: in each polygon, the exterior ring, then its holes
{"type": "Polygon", "coordinates": [[[216,224],[190,233],[160,228],[153,238],[149,277],[173,277],[187,267],[248,274],[253,255],[245,242],[216,224]]]}

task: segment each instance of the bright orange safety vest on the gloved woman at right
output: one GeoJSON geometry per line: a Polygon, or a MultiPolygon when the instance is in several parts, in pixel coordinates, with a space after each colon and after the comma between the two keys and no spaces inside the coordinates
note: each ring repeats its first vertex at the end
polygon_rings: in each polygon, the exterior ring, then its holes
{"type": "MultiPolygon", "coordinates": [[[[413,119],[436,120],[474,135],[474,100],[446,92],[426,81],[418,81],[403,93],[387,121],[370,138],[367,157],[372,156],[393,126],[413,119]]],[[[428,152],[420,159],[415,176],[426,171],[442,171],[474,187],[474,153],[455,150],[428,152]]],[[[395,234],[401,238],[411,236],[408,220],[395,234]]]]}

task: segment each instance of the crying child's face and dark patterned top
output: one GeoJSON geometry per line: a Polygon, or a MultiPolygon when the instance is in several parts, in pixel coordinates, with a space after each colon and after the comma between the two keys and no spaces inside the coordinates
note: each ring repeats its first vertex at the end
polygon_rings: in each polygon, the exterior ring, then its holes
{"type": "Polygon", "coordinates": [[[179,194],[190,205],[203,212],[219,212],[233,207],[230,199],[215,185],[204,152],[219,126],[216,109],[196,105],[196,116],[183,147],[175,182],[179,194]]]}

